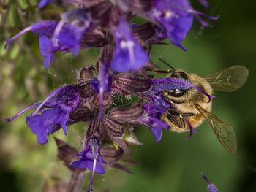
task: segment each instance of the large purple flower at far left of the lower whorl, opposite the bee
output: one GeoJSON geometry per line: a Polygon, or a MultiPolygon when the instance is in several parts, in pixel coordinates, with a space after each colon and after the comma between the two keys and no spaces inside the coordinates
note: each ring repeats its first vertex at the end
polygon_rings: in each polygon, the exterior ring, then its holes
{"type": "Polygon", "coordinates": [[[37,135],[37,141],[40,144],[45,144],[48,141],[48,134],[53,134],[57,126],[61,126],[64,134],[67,135],[69,115],[72,110],[75,110],[80,101],[78,89],[74,85],[65,85],[50,93],[41,104],[27,107],[17,115],[7,119],[7,121],[10,122],[26,110],[37,107],[33,114],[26,117],[26,123],[31,131],[37,135]],[[43,110],[43,108],[46,109],[43,110]],[[39,111],[41,115],[37,114],[39,111]]]}

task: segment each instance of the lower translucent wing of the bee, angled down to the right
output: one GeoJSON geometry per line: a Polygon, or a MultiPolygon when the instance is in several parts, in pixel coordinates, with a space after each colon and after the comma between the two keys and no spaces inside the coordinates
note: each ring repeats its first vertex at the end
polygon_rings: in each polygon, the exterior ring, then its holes
{"type": "Polygon", "coordinates": [[[204,110],[202,107],[198,106],[197,109],[206,119],[209,126],[211,126],[214,134],[219,139],[219,142],[229,153],[236,153],[236,133],[233,128],[227,123],[223,122],[217,116],[204,110]]]}

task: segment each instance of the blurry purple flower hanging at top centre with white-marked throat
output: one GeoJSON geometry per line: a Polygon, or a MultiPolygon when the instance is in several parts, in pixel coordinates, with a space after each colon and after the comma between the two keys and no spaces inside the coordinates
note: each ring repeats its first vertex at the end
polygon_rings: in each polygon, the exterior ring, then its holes
{"type": "Polygon", "coordinates": [[[146,65],[148,54],[132,36],[132,30],[129,24],[123,18],[120,18],[119,24],[115,29],[115,39],[116,50],[110,63],[113,71],[138,71],[146,65]]]}

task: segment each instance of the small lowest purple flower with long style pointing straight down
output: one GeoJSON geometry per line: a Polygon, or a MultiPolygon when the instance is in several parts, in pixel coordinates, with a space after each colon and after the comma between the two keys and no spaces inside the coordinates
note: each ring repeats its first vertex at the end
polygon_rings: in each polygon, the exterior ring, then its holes
{"type": "Polygon", "coordinates": [[[73,161],[71,166],[73,168],[78,169],[85,169],[88,168],[92,171],[91,174],[91,183],[89,186],[88,191],[93,191],[92,183],[94,180],[94,173],[97,172],[98,174],[105,173],[105,168],[101,164],[105,164],[105,161],[102,160],[100,153],[99,153],[99,145],[97,139],[89,139],[87,145],[83,151],[77,154],[80,156],[76,161],[73,161]]]}

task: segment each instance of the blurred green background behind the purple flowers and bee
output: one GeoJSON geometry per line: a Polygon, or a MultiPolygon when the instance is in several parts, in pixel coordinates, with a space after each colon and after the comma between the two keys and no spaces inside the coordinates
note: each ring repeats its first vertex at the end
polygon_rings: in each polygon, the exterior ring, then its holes
{"type": "MultiPolygon", "coordinates": [[[[74,69],[92,64],[99,50],[83,50],[75,58],[71,54],[57,55],[48,70],[43,69],[39,53],[38,35],[26,34],[12,42],[4,50],[4,38],[18,33],[42,18],[58,18],[55,5],[39,11],[34,9],[36,0],[0,1],[0,191],[40,191],[50,176],[69,179],[69,171],[56,161],[56,145],[50,136],[47,145],[39,145],[26,126],[25,117],[31,111],[6,123],[9,118],[26,106],[42,101],[53,88],[74,83],[74,69]],[[7,17],[8,15],[8,17],[7,17]]],[[[200,172],[214,183],[219,191],[256,191],[256,2],[210,1],[204,9],[196,1],[197,9],[209,15],[220,15],[213,28],[200,30],[195,20],[183,45],[187,52],[173,45],[154,46],[152,60],[164,58],[169,64],[187,72],[202,76],[232,65],[244,65],[249,69],[246,85],[234,93],[215,92],[212,112],[233,126],[238,139],[238,152],[227,153],[219,144],[211,128],[203,123],[200,131],[191,139],[188,136],[163,131],[162,141],[157,143],[147,128],[135,128],[135,134],[143,146],[131,146],[132,158],[140,165],[130,169],[130,175],[116,169],[96,175],[94,190],[110,191],[207,191],[200,172]]],[[[166,66],[162,66],[166,69],[166,66]]],[[[69,126],[64,137],[62,131],[55,134],[72,146],[79,148],[83,123],[69,126]]],[[[88,181],[86,181],[88,186],[88,181]]]]}

